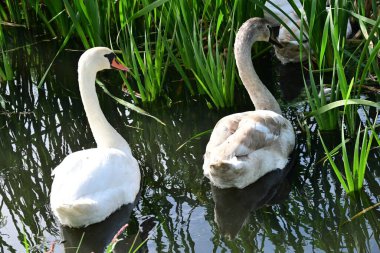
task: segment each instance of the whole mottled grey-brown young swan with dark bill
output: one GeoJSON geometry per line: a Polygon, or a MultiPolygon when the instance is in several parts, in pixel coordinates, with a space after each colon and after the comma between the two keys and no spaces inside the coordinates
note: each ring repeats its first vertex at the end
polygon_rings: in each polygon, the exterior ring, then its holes
{"type": "Polygon", "coordinates": [[[251,61],[255,41],[269,41],[268,21],[252,18],[239,29],[236,65],[256,111],[226,116],[216,124],[204,155],[203,172],[219,188],[245,186],[275,169],[283,169],[295,144],[291,123],[263,85],[251,61]]]}

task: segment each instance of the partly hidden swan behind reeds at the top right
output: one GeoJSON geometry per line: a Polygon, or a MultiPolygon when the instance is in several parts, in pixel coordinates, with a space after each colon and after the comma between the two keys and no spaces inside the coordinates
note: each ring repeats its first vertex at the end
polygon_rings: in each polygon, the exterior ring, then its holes
{"type": "MultiPolygon", "coordinates": [[[[304,20],[306,20],[306,15],[303,10],[303,6],[299,0],[294,0],[296,7],[299,9],[300,13],[303,15],[304,20]]],[[[329,1],[327,2],[329,5],[329,1]]],[[[288,0],[270,0],[265,3],[270,11],[272,11],[279,19],[281,19],[289,29],[294,33],[297,38],[301,37],[301,32],[299,27],[301,27],[301,18],[297,15],[296,11],[290,5],[288,0]],[[278,7],[278,8],[277,8],[278,7]],[[287,17],[286,13],[289,17],[287,17]]],[[[276,20],[272,14],[264,11],[264,17],[268,19],[272,26],[279,26],[279,33],[277,40],[280,42],[282,47],[275,46],[276,57],[281,61],[282,64],[289,62],[299,62],[300,61],[300,49],[299,43],[296,38],[289,32],[289,30],[283,26],[278,20],[276,20]]],[[[352,28],[350,22],[347,23],[346,36],[350,36],[352,33],[352,28]]],[[[308,35],[303,35],[303,47],[309,50],[308,35]]],[[[307,60],[307,53],[302,55],[302,61],[307,60]]]]}

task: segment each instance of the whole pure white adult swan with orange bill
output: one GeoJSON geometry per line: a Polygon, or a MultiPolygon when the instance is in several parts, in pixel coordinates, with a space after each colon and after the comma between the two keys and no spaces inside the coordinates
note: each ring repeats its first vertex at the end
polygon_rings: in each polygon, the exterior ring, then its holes
{"type": "Polygon", "coordinates": [[[140,189],[138,163],[128,143],[108,123],[96,95],[96,73],[110,68],[127,70],[105,47],[89,49],[79,59],[79,90],[98,147],[68,155],[52,173],[50,204],[62,225],[100,222],[133,203],[140,189]]]}

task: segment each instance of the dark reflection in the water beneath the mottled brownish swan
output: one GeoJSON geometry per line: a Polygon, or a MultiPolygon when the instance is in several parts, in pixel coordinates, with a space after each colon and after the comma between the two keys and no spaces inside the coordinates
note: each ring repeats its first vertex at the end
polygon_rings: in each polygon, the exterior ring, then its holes
{"type": "Polygon", "coordinates": [[[285,200],[290,192],[288,171],[288,168],[271,171],[243,189],[220,189],[211,185],[214,219],[220,233],[229,240],[234,239],[251,212],[285,200]]]}

